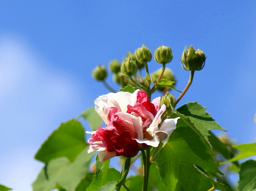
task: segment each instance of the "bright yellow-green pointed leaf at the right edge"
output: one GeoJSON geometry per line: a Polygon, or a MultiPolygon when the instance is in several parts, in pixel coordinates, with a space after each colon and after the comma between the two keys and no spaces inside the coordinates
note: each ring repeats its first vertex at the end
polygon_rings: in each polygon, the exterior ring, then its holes
{"type": "Polygon", "coordinates": [[[256,143],[244,143],[233,145],[233,147],[241,152],[236,157],[229,159],[227,162],[233,162],[256,155],[256,143]]]}

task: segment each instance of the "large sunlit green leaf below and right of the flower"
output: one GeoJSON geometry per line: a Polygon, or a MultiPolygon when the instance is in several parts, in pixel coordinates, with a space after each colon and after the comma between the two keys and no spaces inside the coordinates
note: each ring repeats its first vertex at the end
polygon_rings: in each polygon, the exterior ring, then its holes
{"type": "Polygon", "coordinates": [[[200,188],[200,182],[205,181],[205,178],[194,164],[201,166],[207,173],[221,173],[210,151],[210,146],[189,127],[175,129],[156,158],[166,189],[207,190],[207,187],[200,188]]]}

